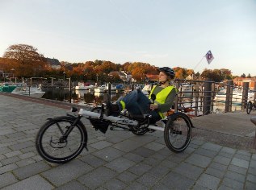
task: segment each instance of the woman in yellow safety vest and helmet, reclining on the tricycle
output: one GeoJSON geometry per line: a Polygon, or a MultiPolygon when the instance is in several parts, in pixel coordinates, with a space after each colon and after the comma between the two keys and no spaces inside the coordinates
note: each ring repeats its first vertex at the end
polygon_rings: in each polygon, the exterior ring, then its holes
{"type": "Polygon", "coordinates": [[[140,89],[136,89],[125,97],[120,97],[116,104],[112,104],[107,93],[104,97],[104,101],[107,103],[107,116],[118,116],[121,110],[127,109],[133,118],[142,118],[143,114],[152,115],[150,123],[155,123],[164,118],[165,115],[163,113],[167,112],[174,104],[174,98],[178,90],[174,85],[171,85],[175,76],[172,68],[158,68],[158,72],[159,85],[153,86],[149,97],[146,97],[140,89]],[[150,104],[152,94],[155,95],[156,99],[153,104],[150,104]]]}

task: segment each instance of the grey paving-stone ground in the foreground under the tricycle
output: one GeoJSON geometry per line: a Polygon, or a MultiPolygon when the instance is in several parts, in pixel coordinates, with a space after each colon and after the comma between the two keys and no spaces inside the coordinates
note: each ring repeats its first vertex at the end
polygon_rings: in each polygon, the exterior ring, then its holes
{"type": "Polygon", "coordinates": [[[52,164],[36,152],[35,136],[47,118],[67,109],[0,93],[1,189],[256,189],[256,154],[194,137],[176,154],[156,131],[95,131],[82,118],[88,149],[52,164]]]}

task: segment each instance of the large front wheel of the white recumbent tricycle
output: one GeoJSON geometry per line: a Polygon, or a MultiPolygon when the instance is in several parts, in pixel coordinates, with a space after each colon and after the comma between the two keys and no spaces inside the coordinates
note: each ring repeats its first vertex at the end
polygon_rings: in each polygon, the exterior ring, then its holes
{"type": "Polygon", "coordinates": [[[78,122],[67,139],[61,140],[64,130],[67,130],[75,119],[68,116],[52,118],[40,127],[36,134],[36,150],[43,159],[50,163],[67,163],[83,151],[86,147],[87,132],[82,122],[78,122]]]}

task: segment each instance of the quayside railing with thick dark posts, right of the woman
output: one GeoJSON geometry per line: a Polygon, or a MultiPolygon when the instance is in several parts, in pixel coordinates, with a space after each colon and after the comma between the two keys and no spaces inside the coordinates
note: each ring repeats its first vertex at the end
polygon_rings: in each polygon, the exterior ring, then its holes
{"type": "Polygon", "coordinates": [[[231,80],[226,84],[214,81],[175,80],[175,85],[178,88],[175,111],[193,110],[195,116],[243,110],[247,101],[254,101],[256,95],[255,90],[249,89],[249,82],[237,87],[231,80]],[[221,90],[223,93],[220,93],[221,90]]]}

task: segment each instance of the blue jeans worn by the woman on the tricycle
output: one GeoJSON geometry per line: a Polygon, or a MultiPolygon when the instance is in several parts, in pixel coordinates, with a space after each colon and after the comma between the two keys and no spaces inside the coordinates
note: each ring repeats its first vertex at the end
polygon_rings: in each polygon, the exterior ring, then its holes
{"type": "Polygon", "coordinates": [[[120,101],[124,101],[125,109],[128,110],[128,113],[132,115],[132,117],[142,117],[144,114],[152,115],[150,118],[150,122],[154,123],[161,119],[160,115],[156,110],[149,109],[150,100],[149,97],[145,96],[141,90],[133,90],[131,93],[128,93],[125,97],[120,97],[117,102],[122,110],[122,105],[120,101]]]}

